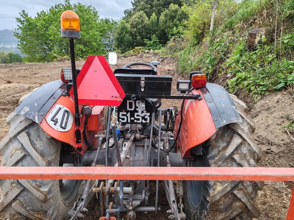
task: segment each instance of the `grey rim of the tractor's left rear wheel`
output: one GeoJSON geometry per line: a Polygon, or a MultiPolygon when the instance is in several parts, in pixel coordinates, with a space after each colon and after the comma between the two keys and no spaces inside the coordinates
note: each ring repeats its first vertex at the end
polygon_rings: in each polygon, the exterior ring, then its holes
{"type": "MultiPolygon", "coordinates": [[[[63,167],[73,167],[74,164],[63,164],[63,167]]],[[[73,204],[78,195],[82,180],[59,180],[61,199],[65,204],[73,204]]]]}

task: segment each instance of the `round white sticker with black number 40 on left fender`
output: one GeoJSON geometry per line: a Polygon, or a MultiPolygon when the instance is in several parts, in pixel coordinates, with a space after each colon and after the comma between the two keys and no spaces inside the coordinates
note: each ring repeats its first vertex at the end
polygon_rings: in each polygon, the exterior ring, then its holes
{"type": "Polygon", "coordinates": [[[56,131],[68,131],[73,124],[73,116],[65,106],[55,105],[46,121],[56,131]]]}

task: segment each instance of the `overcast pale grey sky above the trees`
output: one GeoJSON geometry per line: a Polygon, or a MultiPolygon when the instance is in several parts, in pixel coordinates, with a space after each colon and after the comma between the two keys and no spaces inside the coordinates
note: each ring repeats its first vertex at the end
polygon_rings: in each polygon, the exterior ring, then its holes
{"type": "MultiPolygon", "coordinates": [[[[0,30],[15,29],[15,18],[21,10],[36,16],[36,12],[49,9],[50,6],[63,3],[63,0],[0,0],[0,30]]],[[[99,16],[119,19],[123,16],[123,10],[131,8],[131,0],[71,0],[71,4],[81,2],[96,7],[99,16]]]]}

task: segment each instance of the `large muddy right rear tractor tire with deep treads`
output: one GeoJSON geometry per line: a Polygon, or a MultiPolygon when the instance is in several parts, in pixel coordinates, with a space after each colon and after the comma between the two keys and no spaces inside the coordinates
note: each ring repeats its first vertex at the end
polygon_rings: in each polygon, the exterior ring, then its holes
{"type": "MultiPolygon", "coordinates": [[[[246,104],[232,96],[243,123],[232,123],[222,128],[202,144],[202,156],[196,156],[188,166],[256,167],[261,154],[252,134],[254,122],[245,111],[246,104]]],[[[260,216],[255,204],[258,181],[184,181],[184,209],[188,220],[249,220],[260,216]]]]}

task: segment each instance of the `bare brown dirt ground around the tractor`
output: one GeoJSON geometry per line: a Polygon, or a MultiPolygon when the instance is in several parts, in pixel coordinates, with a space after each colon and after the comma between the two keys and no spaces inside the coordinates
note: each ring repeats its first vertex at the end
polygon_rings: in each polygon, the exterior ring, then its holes
{"type": "MultiPolygon", "coordinates": [[[[162,58],[156,55],[119,57],[118,66],[122,67],[129,62],[151,62],[152,60],[161,61],[158,70],[162,75],[173,76],[172,93],[178,94],[176,81],[179,76],[174,58],[162,58]]],[[[77,68],[81,68],[83,63],[84,61],[78,61],[77,68]]],[[[18,105],[19,98],[46,82],[59,79],[60,70],[70,66],[69,61],[0,64],[0,140],[8,133],[5,121],[18,105]]],[[[115,69],[116,66],[111,68],[115,69]]],[[[294,142],[285,132],[285,128],[282,128],[288,121],[294,121],[293,103],[294,97],[288,92],[276,92],[265,96],[255,104],[248,103],[250,104],[248,114],[253,117],[256,124],[254,138],[263,150],[258,166],[294,167],[294,142]]],[[[177,107],[179,104],[179,100],[164,100],[162,108],[177,107]]],[[[290,131],[290,134],[294,136],[293,130],[290,131]]],[[[153,182],[151,184],[155,185],[153,182]]],[[[265,182],[265,187],[259,192],[256,201],[262,211],[258,220],[286,219],[292,187],[293,183],[290,182],[265,182]]],[[[140,214],[137,216],[138,219],[168,219],[167,201],[164,194],[159,195],[159,201],[162,211],[157,216],[140,214]]],[[[99,209],[99,201],[93,197],[86,219],[99,219],[100,216],[97,214],[99,209]]],[[[1,214],[0,219],[4,220],[1,214]]]]}

